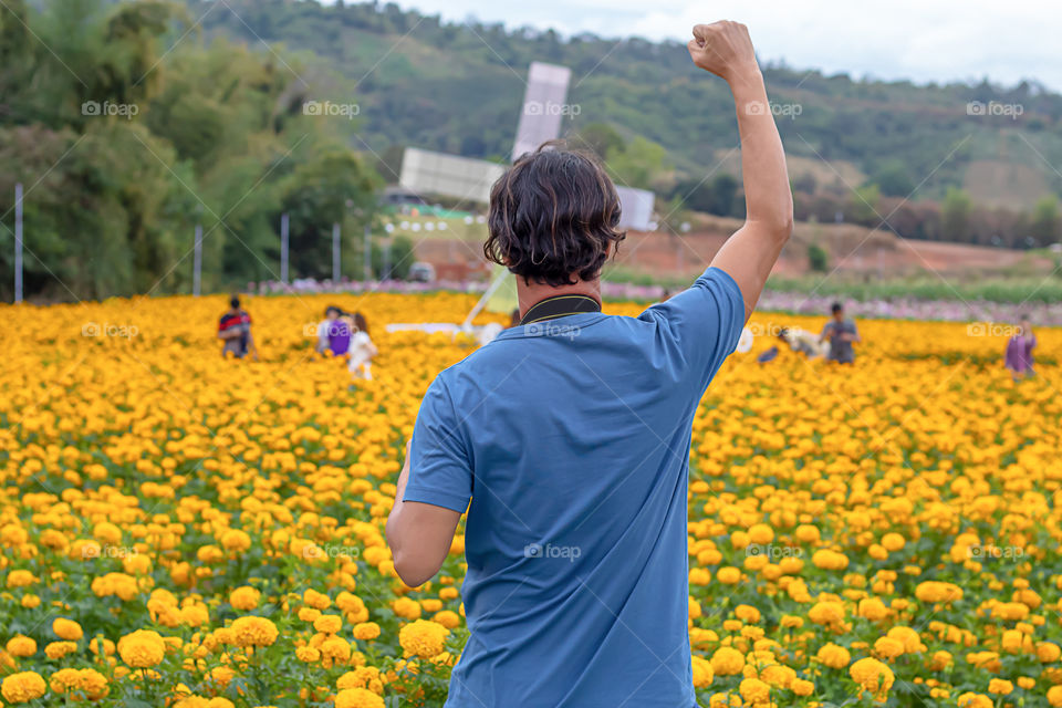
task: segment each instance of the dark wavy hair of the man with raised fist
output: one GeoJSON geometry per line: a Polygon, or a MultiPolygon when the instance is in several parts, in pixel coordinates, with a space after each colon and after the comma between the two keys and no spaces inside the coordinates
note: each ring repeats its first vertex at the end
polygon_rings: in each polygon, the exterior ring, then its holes
{"type": "Polygon", "coordinates": [[[593,280],[626,236],[620,196],[592,155],[561,140],[521,156],[490,189],[488,260],[549,285],[593,280]]]}

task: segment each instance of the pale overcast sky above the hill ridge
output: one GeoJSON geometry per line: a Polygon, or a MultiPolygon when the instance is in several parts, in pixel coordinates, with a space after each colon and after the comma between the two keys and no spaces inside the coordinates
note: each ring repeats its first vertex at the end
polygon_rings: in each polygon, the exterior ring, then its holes
{"type": "MultiPolygon", "coordinates": [[[[553,28],[564,34],[685,41],[696,22],[749,25],[761,60],[853,77],[1033,79],[1062,91],[1062,3],[1055,0],[398,0],[445,19],[553,28]]],[[[613,55],[610,61],[622,61],[613,55]]]]}

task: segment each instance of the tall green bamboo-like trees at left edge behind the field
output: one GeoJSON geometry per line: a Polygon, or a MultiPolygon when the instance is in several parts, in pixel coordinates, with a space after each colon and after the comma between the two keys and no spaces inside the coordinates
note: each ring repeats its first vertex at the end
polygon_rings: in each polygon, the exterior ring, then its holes
{"type": "Polygon", "coordinates": [[[280,48],[207,44],[178,4],[35,7],[0,9],[0,268],[21,181],[29,296],[188,291],[196,223],[205,290],[275,278],[282,210],[292,275],[327,274],[332,222],[372,219],[379,179],[347,146],[352,121],[303,112],[350,102],[347,80],[280,48]]]}

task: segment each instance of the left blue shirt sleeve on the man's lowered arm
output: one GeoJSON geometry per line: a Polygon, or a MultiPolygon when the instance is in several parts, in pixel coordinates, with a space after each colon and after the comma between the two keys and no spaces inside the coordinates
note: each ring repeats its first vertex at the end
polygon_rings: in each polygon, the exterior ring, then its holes
{"type": "Polygon", "coordinates": [[[409,477],[403,501],[418,501],[457,512],[472,498],[472,469],[458,430],[449,391],[436,378],[420,403],[413,429],[409,477]]]}

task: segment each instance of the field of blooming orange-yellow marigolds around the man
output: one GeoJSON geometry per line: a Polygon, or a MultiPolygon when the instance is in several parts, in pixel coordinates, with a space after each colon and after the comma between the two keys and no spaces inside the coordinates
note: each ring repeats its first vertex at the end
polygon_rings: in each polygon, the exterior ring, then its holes
{"type": "MultiPolygon", "coordinates": [[[[220,296],[0,308],[0,704],[441,706],[461,530],[410,589],[383,529],[421,395],[476,344],[384,325],[473,302],[250,299],[259,362],[220,357],[220,296]],[[333,302],[381,350],[353,389],[312,353],[333,302]]],[[[854,367],[759,365],[759,339],[698,412],[700,704],[1062,706],[1062,331],[1014,384],[993,327],[860,327],[854,367]]]]}

